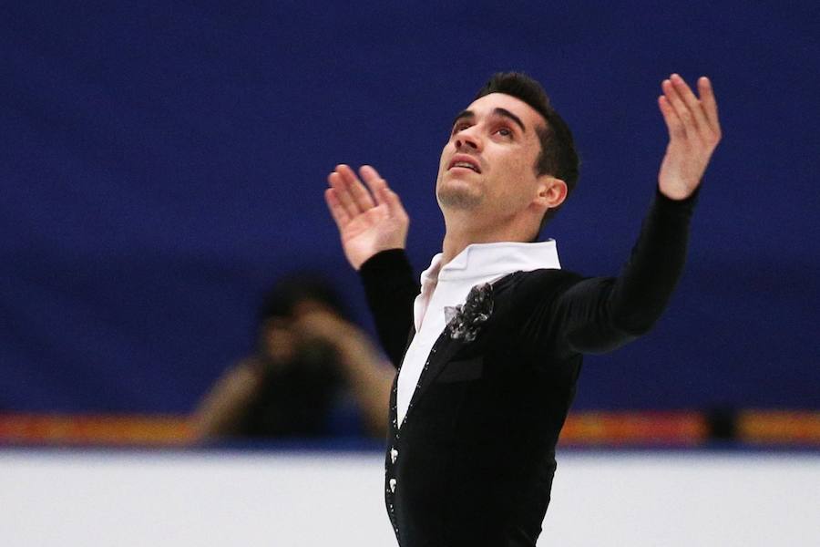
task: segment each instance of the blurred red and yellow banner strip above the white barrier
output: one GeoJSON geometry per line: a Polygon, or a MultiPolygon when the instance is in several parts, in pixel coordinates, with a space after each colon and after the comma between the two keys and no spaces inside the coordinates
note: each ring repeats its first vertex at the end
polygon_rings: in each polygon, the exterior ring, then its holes
{"type": "MultiPolygon", "coordinates": [[[[0,444],[174,447],[190,444],[186,416],[0,414],[0,444]]],[[[574,412],[562,446],[698,447],[710,440],[700,412],[574,412]]],[[[734,440],[764,446],[820,447],[820,412],[745,410],[734,440]]]]}

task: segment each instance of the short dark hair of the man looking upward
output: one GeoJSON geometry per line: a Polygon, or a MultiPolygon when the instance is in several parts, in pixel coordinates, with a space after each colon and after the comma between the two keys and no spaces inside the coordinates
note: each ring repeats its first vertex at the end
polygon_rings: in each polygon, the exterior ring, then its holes
{"type": "MultiPolygon", "coordinates": [[[[569,197],[578,182],[578,152],[567,122],[549,104],[549,98],[541,84],[521,72],[498,72],[487,80],[473,100],[490,93],[503,93],[518,98],[543,116],[547,123],[543,128],[536,129],[541,142],[541,153],[538,154],[534,169],[538,175],[550,175],[566,182],[569,197]]],[[[544,214],[538,232],[558,210],[559,207],[556,207],[544,214]]]]}

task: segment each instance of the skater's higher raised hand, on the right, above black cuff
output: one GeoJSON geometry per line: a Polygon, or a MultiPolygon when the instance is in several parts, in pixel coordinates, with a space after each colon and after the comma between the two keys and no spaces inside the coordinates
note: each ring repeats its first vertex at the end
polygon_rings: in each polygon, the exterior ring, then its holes
{"type": "Polygon", "coordinates": [[[661,162],[658,186],[668,198],[683,200],[701,183],[721,140],[717,103],[707,77],[698,79],[700,98],[677,74],[663,80],[661,89],[658,105],[669,129],[669,146],[661,162]]]}

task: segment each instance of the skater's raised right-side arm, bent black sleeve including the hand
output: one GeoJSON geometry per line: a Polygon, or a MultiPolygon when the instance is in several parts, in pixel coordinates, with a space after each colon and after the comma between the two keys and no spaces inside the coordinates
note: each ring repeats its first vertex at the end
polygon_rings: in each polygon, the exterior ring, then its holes
{"type": "Polygon", "coordinates": [[[570,283],[550,305],[559,346],[569,351],[610,351],[646,333],[682,274],[697,190],[721,131],[707,78],[698,80],[700,98],[678,75],[661,88],[659,106],[670,142],[657,195],[630,260],[618,277],[570,283]]]}

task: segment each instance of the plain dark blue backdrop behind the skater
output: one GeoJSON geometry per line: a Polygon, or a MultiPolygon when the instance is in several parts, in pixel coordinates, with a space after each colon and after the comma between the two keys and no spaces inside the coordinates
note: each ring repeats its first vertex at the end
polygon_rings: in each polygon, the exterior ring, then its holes
{"type": "Polygon", "coordinates": [[[707,74],[721,108],[680,290],[576,408],[818,408],[818,28],[809,1],[3,3],[0,409],[188,411],[297,266],[372,328],[327,173],[381,170],[425,267],[450,120],[507,69],[575,131],[544,235],[583,274],[620,270],[651,200],[661,79],[707,74]]]}

